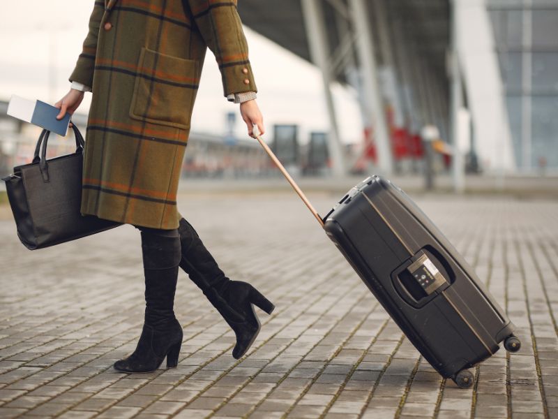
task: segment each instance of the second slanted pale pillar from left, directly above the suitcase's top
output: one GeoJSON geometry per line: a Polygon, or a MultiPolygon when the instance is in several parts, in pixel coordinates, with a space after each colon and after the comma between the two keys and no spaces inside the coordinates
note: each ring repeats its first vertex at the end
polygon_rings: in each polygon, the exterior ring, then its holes
{"type": "MultiPolygon", "coordinates": [[[[308,1],[308,0],[306,0],[308,1]]],[[[393,173],[391,141],[386,124],[377,77],[374,42],[370,31],[367,1],[349,0],[352,21],[356,30],[356,51],[361,64],[365,97],[369,98],[374,121],[374,138],[378,152],[378,168],[384,175],[393,173]]]]}

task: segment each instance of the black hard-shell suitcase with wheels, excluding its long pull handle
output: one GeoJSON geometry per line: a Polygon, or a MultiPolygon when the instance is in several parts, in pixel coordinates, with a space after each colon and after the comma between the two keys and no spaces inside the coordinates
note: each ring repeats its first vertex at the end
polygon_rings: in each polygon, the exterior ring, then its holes
{"type": "Polygon", "coordinates": [[[501,341],[519,350],[513,324],[472,267],[389,180],[365,179],[324,220],[327,235],[444,378],[467,388],[474,381],[467,368],[501,341]]]}

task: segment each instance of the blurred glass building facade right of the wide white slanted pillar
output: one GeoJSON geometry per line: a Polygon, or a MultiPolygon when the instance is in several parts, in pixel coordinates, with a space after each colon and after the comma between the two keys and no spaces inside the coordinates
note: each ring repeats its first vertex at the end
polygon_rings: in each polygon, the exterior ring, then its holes
{"type": "Polygon", "coordinates": [[[558,169],[558,0],[487,0],[521,171],[558,169]]]}

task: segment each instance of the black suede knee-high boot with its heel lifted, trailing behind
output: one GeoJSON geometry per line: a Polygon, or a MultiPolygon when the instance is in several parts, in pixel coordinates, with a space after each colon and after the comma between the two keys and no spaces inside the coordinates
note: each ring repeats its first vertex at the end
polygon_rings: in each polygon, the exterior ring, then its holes
{"type": "Polygon", "coordinates": [[[260,329],[252,304],[267,314],[271,314],[275,306],[250,284],[227,278],[186,219],[179,221],[179,235],[180,267],[234,330],[236,345],[232,356],[239,359],[248,351],[260,329]]]}

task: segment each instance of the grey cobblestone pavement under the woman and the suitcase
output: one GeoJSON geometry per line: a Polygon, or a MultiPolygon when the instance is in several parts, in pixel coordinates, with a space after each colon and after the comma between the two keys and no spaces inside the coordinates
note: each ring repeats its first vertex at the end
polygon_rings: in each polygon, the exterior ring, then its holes
{"type": "MultiPolygon", "coordinates": [[[[310,196],[324,212],[338,196],[310,196]]],[[[276,304],[241,360],[179,274],[179,365],[121,374],[144,310],[139,231],[28,251],[0,221],[0,417],[558,418],[558,201],[417,198],[518,327],[462,390],[418,354],[292,193],[179,198],[225,272],[276,304]]]]}

